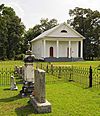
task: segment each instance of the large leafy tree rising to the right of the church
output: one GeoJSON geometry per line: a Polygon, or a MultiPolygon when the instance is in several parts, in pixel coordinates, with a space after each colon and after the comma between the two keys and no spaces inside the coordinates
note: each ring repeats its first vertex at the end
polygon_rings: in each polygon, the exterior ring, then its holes
{"type": "Polygon", "coordinates": [[[97,57],[98,53],[96,51],[98,51],[100,37],[100,12],[76,7],[69,11],[69,15],[72,17],[68,20],[69,24],[86,38],[84,40],[84,57],[97,57]]]}

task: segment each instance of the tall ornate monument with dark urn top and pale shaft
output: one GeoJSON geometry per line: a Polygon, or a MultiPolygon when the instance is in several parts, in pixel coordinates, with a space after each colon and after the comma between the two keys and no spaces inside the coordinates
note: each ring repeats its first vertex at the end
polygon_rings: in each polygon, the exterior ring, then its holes
{"type": "Polygon", "coordinates": [[[30,44],[28,42],[28,51],[26,51],[26,55],[24,58],[24,75],[23,75],[23,87],[20,91],[22,97],[26,97],[31,95],[34,89],[34,55],[32,55],[32,51],[30,50],[30,44]]]}

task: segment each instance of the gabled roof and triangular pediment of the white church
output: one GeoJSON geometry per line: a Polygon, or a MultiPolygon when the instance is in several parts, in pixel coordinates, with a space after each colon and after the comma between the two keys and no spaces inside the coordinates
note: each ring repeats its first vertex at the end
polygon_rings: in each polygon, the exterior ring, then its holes
{"type": "MultiPolygon", "coordinates": [[[[74,33],[74,37],[76,38],[83,38],[85,39],[85,37],[83,37],[80,33],[78,33],[77,31],[75,31],[72,27],[70,27],[68,24],[66,24],[65,22],[64,23],[61,23],[60,25],[57,25],[45,32],[43,32],[42,34],[40,34],[39,36],[37,36],[36,38],[34,38],[33,40],[31,40],[31,42],[35,41],[35,40],[38,40],[38,39],[42,39],[44,37],[66,37],[68,38],[69,36],[67,36],[66,34],[62,34],[62,35],[54,35],[54,32],[57,30],[57,29],[60,29],[61,30],[63,29],[62,27],[66,27],[67,30],[71,30],[73,33],[74,33]]],[[[61,32],[61,31],[60,31],[61,32]]],[[[73,37],[73,36],[71,36],[73,37]]]]}

